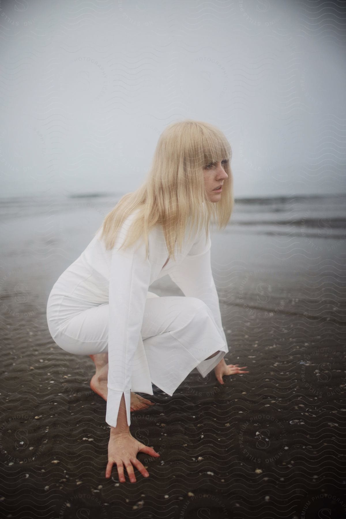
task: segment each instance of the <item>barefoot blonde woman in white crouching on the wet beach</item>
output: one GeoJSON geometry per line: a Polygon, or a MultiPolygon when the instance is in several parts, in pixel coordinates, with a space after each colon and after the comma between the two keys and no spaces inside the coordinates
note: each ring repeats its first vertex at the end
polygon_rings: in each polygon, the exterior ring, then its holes
{"type": "Polygon", "coordinates": [[[149,475],[137,453],[159,456],[130,433],[130,410],[152,404],[135,391],[153,394],[154,383],[172,395],[195,367],[203,377],[215,368],[220,384],[224,375],[248,373],[223,359],[228,346],[210,263],[209,222],[225,227],[233,209],[230,154],[210,124],[168,126],[146,181],[107,214],[49,295],[52,338],[90,355],[91,388],[107,401],[106,477],[116,463],[119,481],[124,465],[135,482],[133,466],[149,475]],[[185,296],[148,291],[166,274],[185,296]]]}

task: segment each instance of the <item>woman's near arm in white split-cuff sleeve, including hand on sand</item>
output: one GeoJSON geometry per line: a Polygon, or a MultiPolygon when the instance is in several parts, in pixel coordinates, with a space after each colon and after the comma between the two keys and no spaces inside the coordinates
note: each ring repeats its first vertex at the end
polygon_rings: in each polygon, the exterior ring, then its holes
{"type": "Polygon", "coordinates": [[[118,232],[109,276],[106,422],[110,425],[110,436],[106,477],[111,476],[116,464],[120,482],[125,481],[124,467],[131,482],[136,481],[134,467],[145,477],[149,475],[137,459],[139,452],[159,456],[153,448],[133,438],[129,427],[133,357],[139,344],[151,275],[143,242],[119,250],[129,232],[132,216],[126,219],[118,232]]]}

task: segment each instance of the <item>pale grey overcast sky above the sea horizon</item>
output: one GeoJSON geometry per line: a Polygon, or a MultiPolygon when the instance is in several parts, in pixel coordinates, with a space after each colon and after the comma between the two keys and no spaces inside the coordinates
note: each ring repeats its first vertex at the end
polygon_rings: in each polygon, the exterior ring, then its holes
{"type": "Polygon", "coordinates": [[[344,10],[1,2],[2,196],[133,191],[185,118],[226,134],[236,197],[346,192],[344,10]]]}

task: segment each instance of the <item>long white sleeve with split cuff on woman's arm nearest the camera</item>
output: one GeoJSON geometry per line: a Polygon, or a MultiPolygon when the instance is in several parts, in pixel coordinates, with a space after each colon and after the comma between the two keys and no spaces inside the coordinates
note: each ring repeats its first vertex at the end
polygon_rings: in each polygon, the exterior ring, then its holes
{"type": "Polygon", "coordinates": [[[138,240],[119,251],[130,227],[123,223],[112,249],[109,278],[108,395],[106,422],[116,427],[122,393],[130,426],[130,395],[133,356],[139,342],[144,307],[150,284],[151,265],[145,244],[138,240]]]}

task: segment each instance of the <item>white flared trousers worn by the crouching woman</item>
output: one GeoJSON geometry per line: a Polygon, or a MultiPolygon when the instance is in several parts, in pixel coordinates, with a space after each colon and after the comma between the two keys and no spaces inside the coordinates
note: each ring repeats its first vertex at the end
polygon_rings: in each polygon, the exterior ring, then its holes
{"type": "MultiPolygon", "coordinates": [[[[54,342],[77,355],[108,352],[108,307],[86,308],[70,298],[50,296],[47,322],[54,342]]],[[[141,336],[151,381],[168,394],[195,367],[205,377],[228,351],[210,308],[196,297],[148,292],[141,336]]]]}

